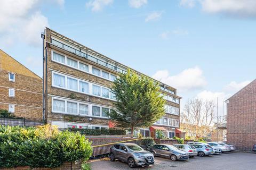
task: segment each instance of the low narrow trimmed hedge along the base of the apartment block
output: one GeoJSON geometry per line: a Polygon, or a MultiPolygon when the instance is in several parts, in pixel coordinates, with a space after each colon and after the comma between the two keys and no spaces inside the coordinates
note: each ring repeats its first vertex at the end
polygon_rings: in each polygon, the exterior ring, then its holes
{"type": "Polygon", "coordinates": [[[84,135],[125,135],[125,130],[117,130],[117,129],[78,129],[78,128],[69,128],[69,131],[80,132],[84,135]]]}

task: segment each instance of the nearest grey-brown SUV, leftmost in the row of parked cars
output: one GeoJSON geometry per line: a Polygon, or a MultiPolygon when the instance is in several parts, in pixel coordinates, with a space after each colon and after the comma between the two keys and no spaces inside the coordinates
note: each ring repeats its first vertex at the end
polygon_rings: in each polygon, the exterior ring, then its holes
{"type": "Polygon", "coordinates": [[[118,159],[128,163],[131,168],[152,165],[155,161],[153,154],[134,143],[115,144],[110,148],[109,158],[111,162],[118,159]]]}

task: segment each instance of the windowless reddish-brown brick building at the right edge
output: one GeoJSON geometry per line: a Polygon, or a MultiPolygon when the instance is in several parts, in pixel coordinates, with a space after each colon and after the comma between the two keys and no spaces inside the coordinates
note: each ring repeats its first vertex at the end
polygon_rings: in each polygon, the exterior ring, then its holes
{"type": "Polygon", "coordinates": [[[256,80],[227,101],[227,142],[251,151],[256,144],[256,80]]]}

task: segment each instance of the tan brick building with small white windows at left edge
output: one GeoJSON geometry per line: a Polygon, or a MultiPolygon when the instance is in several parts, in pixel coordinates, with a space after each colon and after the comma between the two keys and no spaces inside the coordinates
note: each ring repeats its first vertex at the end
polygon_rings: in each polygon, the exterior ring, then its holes
{"type": "Polygon", "coordinates": [[[42,118],[42,78],[0,49],[0,109],[42,118]]]}

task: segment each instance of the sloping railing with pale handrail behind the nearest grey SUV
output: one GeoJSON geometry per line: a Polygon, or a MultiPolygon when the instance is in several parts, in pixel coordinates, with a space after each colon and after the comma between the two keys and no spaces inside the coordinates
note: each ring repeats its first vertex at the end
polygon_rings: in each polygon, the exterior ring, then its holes
{"type": "Polygon", "coordinates": [[[98,146],[92,146],[93,152],[92,152],[91,158],[109,154],[110,148],[113,147],[116,143],[127,143],[127,142],[129,142],[129,143],[139,144],[139,142],[142,139],[143,138],[120,141],[120,142],[114,142],[114,143],[107,143],[107,144],[98,145],[98,146]]]}

